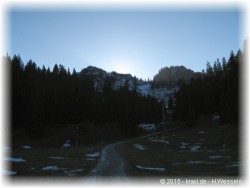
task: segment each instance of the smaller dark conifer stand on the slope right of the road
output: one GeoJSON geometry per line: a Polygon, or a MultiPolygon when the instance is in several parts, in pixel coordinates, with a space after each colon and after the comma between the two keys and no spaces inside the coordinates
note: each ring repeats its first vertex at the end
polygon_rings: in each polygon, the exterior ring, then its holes
{"type": "Polygon", "coordinates": [[[207,62],[206,71],[196,73],[189,83],[182,83],[175,93],[173,117],[187,120],[193,126],[200,115],[216,113],[222,123],[238,124],[239,71],[244,52],[230,53],[229,59],[217,59],[213,66],[207,62]]]}

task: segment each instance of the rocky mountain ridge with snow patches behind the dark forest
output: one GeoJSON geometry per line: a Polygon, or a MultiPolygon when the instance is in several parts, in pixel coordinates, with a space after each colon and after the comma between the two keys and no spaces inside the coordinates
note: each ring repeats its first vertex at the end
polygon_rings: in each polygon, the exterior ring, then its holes
{"type": "Polygon", "coordinates": [[[136,91],[142,95],[142,96],[152,96],[156,98],[158,101],[163,101],[165,104],[167,104],[167,101],[169,97],[178,90],[178,78],[183,78],[181,76],[176,76],[178,72],[181,72],[183,76],[183,73],[186,73],[185,79],[182,79],[182,81],[187,82],[188,78],[191,79],[191,76],[195,74],[194,71],[185,68],[184,66],[171,66],[171,67],[164,67],[159,70],[159,73],[163,77],[163,81],[161,83],[161,79],[155,79],[159,75],[156,74],[154,77],[154,80],[142,80],[137,78],[136,76],[132,76],[131,74],[122,74],[117,73],[115,71],[107,72],[101,68],[95,67],[95,66],[88,66],[84,69],[82,69],[79,74],[80,75],[88,75],[91,76],[91,78],[94,81],[94,87],[97,91],[102,92],[105,80],[109,79],[112,82],[112,88],[113,90],[118,90],[121,87],[124,87],[126,84],[130,91],[133,89],[136,89],[136,91]],[[166,71],[172,72],[172,74],[166,75],[166,71]],[[173,74],[173,72],[175,74],[173,74]],[[173,78],[174,77],[174,78],[173,78]],[[170,78],[170,81],[166,81],[166,78],[170,78]],[[174,80],[174,82],[173,82],[174,80]],[[165,83],[164,83],[165,81],[165,83]],[[160,84],[159,84],[160,82],[160,84]],[[167,83],[167,84],[166,84],[167,83]],[[168,84],[171,83],[171,84],[168,84]]]}

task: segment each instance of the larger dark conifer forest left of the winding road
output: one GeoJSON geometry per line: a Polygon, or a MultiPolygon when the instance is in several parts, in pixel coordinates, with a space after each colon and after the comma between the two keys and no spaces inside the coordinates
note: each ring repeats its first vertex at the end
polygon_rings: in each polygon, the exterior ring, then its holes
{"type": "Polygon", "coordinates": [[[120,132],[130,136],[136,134],[138,123],[161,119],[161,104],[140,95],[136,87],[129,90],[127,83],[113,90],[114,81],[107,77],[99,91],[90,75],[75,69],[71,73],[63,65],[40,68],[32,60],[24,64],[19,55],[7,55],[5,61],[11,71],[12,129],[22,129],[30,137],[43,137],[48,127],[84,121],[100,127],[117,122],[120,132]]]}

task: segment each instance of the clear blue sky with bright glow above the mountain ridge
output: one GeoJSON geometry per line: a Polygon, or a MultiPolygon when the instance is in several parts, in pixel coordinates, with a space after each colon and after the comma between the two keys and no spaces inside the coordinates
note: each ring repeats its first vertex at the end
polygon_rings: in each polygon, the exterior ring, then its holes
{"type": "Polygon", "coordinates": [[[42,67],[92,65],[152,79],[159,69],[194,71],[229,57],[245,37],[239,9],[10,9],[8,53],[42,67]]]}

